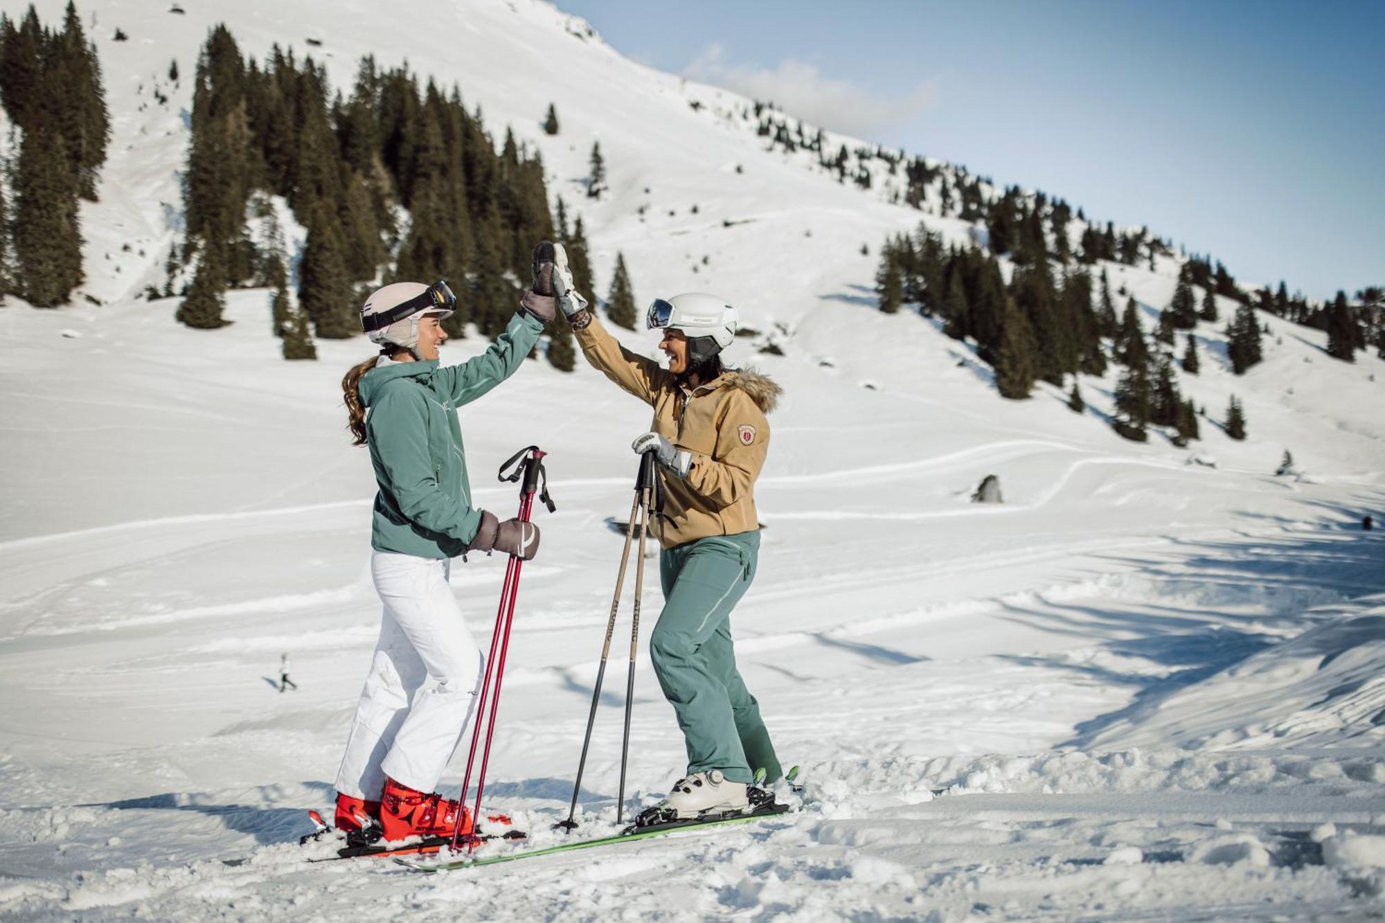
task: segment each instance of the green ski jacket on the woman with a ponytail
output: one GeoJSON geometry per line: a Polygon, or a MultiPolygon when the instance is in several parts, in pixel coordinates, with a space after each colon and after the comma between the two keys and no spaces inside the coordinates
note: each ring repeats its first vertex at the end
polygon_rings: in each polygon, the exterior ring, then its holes
{"type": "Polygon", "coordinates": [[[414,557],[456,557],[481,528],[471,504],[457,407],[512,376],[543,323],[515,313],[483,353],[457,366],[399,362],[360,378],[366,443],[375,466],[371,547],[414,557]]]}

